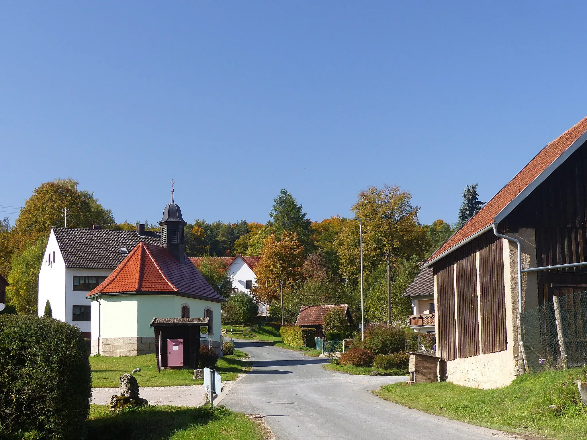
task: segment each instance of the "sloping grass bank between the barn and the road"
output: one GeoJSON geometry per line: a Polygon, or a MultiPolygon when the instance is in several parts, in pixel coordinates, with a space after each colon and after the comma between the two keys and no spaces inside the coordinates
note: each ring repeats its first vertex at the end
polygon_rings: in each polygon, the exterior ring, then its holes
{"type": "Polygon", "coordinates": [[[584,368],[525,374],[507,387],[451,383],[386,385],[375,394],[406,407],[501,431],[559,440],[587,438],[587,406],[573,381],[584,368]],[[558,412],[549,405],[557,405],[558,412]]]}

